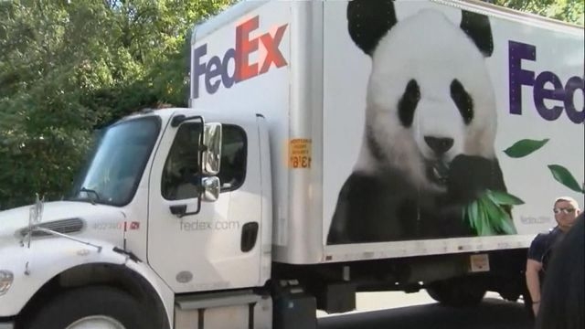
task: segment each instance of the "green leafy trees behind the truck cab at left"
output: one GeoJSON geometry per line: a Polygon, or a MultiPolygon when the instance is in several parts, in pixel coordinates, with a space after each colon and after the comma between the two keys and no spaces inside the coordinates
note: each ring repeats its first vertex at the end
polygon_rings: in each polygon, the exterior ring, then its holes
{"type": "Polygon", "coordinates": [[[186,105],[189,28],[233,2],[0,1],[0,209],[67,191],[96,127],[186,105]]]}

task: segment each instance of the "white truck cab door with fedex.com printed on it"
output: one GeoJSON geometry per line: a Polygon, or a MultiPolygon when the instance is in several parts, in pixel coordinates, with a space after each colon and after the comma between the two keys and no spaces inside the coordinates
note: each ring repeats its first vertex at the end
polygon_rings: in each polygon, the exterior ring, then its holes
{"type": "Polygon", "coordinates": [[[148,261],[175,292],[257,286],[261,218],[258,135],[254,127],[224,124],[216,202],[179,218],[173,208],[197,209],[200,122],[167,127],[150,173],[148,261]],[[250,133],[249,133],[250,132],[250,133]],[[255,161],[253,159],[256,159],[255,161]]]}

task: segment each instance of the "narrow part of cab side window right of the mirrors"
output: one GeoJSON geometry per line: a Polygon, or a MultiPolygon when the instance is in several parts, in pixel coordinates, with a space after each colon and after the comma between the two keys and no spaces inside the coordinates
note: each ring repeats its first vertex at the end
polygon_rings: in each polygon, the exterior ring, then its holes
{"type": "Polygon", "coordinates": [[[233,191],[244,183],[248,143],[246,133],[237,125],[224,124],[221,139],[219,182],[221,191],[233,191]]]}

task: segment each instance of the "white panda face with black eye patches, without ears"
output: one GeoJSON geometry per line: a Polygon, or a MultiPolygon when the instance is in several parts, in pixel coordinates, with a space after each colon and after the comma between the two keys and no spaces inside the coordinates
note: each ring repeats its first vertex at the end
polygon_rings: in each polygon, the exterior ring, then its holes
{"type": "Polygon", "coordinates": [[[456,155],[494,157],[495,115],[482,52],[441,13],[421,11],[380,38],[367,136],[389,165],[441,189],[456,155]]]}

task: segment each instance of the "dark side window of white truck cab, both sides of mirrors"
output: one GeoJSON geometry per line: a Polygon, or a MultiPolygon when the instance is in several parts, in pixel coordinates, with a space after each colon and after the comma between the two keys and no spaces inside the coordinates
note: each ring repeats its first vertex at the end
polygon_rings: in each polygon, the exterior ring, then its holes
{"type": "MultiPolygon", "coordinates": [[[[167,200],[183,200],[197,197],[197,143],[201,125],[184,123],[176,132],[175,141],[163,169],[161,182],[163,197],[167,200]]],[[[244,183],[246,177],[246,133],[236,125],[222,127],[221,166],[219,181],[221,191],[232,191],[244,183]]]]}

